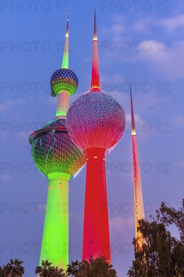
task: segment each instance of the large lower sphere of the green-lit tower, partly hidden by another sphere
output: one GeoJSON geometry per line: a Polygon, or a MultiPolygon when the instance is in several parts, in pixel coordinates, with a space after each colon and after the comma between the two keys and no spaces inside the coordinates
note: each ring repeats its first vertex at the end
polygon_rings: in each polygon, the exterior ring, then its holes
{"type": "Polygon", "coordinates": [[[33,160],[46,175],[62,172],[72,176],[86,162],[85,152],[82,153],[68,135],[65,119],[54,119],[47,123],[33,132],[29,141],[33,160]]]}

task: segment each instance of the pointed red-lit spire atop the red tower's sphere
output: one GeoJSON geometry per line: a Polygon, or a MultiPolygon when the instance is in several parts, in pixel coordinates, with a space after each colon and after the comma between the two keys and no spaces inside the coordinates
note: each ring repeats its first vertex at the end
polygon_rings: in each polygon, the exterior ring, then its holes
{"type": "Polygon", "coordinates": [[[96,11],[94,20],[94,40],[93,40],[93,61],[91,72],[91,86],[90,89],[100,89],[100,74],[99,74],[99,56],[98,56],[98,39],[97,39],[97,23],[96,11]]]}

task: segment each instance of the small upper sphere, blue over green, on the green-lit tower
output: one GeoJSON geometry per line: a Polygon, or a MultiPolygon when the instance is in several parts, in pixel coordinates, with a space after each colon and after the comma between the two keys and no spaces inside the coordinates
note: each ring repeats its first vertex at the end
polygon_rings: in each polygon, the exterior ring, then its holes
{"type": "Polygon", "coordinates": [[[60,68],[52,74],[50,85],[55,94],[68,91],[69,95],[72,95],[78,87],[78,78],[69,68],[60,68]]]}

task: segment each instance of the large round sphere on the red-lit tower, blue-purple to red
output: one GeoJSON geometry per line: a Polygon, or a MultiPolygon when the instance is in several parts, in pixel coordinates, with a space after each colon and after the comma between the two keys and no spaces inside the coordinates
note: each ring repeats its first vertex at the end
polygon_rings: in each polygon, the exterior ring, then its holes
{"type": "Polygon", "coordinates": [[[119,142],[125,129],[125,113],[115,98],[94,89],[71,104],[66,125],[79,149],[111,149],[119,142]]]}

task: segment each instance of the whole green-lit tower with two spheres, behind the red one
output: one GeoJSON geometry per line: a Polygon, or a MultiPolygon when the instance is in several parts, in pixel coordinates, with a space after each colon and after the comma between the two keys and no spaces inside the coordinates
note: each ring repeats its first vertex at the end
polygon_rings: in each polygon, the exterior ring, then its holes
{"type": "Polygon", "coordinates": [[[33,160],[49,180],[40,265],[42,260],[49,260],[64,269],[69,253],[68,181],[86,162],[85,153],[72,142],[66,129],[69,95],[78,86],[76,74],[68,68],[67,47],[68,20],[62,68],[53,73],[50,81],[51,95],[58,95],[56,118],[29,137],[33,160]]]}

